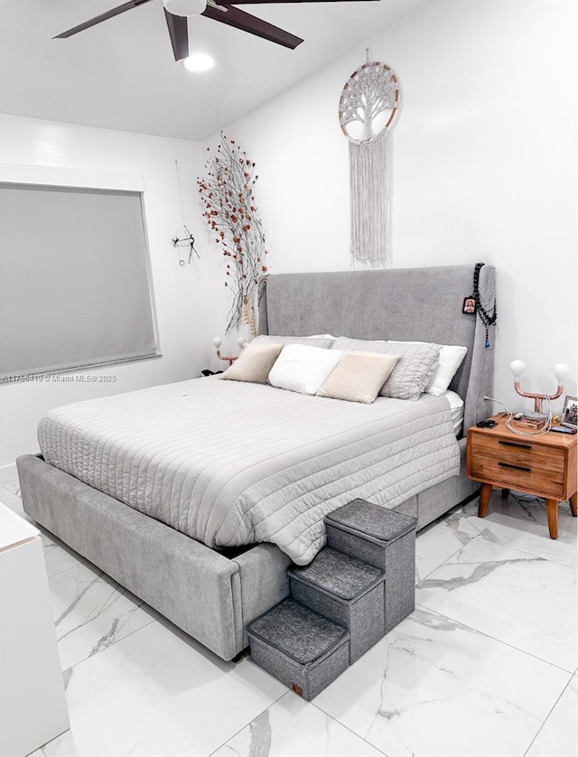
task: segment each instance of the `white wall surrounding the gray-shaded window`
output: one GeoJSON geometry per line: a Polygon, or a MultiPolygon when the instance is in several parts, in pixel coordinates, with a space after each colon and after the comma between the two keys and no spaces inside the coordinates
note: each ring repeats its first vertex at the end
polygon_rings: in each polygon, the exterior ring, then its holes
{"type": "MultiPolygon", "coordinates": [[[[153,270],[162,358],[142,360],[83,374],[116,376],[115,383],[53,380],[0,386],[2,434],[0,481],[14,480],[11,463],[38,449],[36,425],[51,407],[89,397],[126,392],[199,375],[214,365],[211,338],[224,316],[213,304],[222,285],[212,248],[200,220],[196,177],[204,154],[199,143],[70,126],[33,118],[0,117],[3,163],[60,166],[107,173],[142,174],[148,242],[153,270]],[[179,266],[171,238],[182,225],[174,161],[179,162],[185,220],[198,238],[201,259],[179,266]],[[3,468],[4,466],[4,468],[3,468]]],[[[89,233],[89,229],[87,229],[89,233]]],[[[81,254],[79,250],[79,254],[81,254]]],[[[186,256],[186,249],[182,250],[186,256]]],[[[42,318],[42,313],[38,313],[42,318]]],[[[72,314],[73,317],[73,314],[72,314]]],[[[67,376],[70,374],[67,374],[67,376]]],[[[71,374],[73,376],[79,374],[71,374]]]]}

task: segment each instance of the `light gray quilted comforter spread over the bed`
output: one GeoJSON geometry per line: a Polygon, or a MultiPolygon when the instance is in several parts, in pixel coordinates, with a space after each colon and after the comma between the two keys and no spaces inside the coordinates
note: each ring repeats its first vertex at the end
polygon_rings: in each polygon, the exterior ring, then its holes
{"type": "Polygon", "coordinates": [[[330,510],[394,507],[460,464],[444,397],[360,405],[219,378],[56,408],[39,441],[48,463],[209,547],[268,541],[299,565],[330,510]]]}

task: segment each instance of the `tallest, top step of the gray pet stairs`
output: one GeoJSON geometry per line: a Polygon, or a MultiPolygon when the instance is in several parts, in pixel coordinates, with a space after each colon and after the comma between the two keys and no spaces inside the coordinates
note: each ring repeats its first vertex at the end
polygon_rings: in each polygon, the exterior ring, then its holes
{"type": "Polygon", "coordinates": [[[385,573],[385,632],[415,610],[415,518],[366,500],[325,516],[327,546],[385,573]]]}

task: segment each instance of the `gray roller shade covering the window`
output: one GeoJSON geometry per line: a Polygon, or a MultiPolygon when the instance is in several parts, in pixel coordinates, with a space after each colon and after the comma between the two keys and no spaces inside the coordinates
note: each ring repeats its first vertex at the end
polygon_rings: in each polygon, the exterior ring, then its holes
{"type": "Polygon", "coordinates": [[[0,184],[0,376],[158,354],[140,192],[0,184]]]}

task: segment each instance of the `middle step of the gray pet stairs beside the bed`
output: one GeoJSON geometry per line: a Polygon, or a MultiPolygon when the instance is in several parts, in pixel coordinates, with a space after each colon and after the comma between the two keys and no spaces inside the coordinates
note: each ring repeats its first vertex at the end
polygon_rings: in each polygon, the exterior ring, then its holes
{"type": "Polygon", "coordinates": [[[350,664],[385,635],[384,575],[377,567],[325,547],[287,573],[294,600],[350,631],[350,664]]]}

